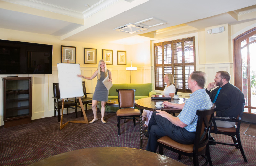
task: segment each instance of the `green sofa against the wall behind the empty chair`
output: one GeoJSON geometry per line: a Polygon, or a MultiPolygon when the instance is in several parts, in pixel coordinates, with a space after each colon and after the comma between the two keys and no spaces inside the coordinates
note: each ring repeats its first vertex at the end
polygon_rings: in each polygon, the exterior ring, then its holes
{"type": "MultiPolygon", "coordinates": [[[[118,99],[118,94],[116,89],[136,89],[135,91],[135,99],[141,99],[145,97],[151,97],[152,94],[156,94],[153,91],[153,84],[113,84],[113,86],[109,89],[108,100],[118,99]]],[[[101,110],[101,102],[99,104],[101,110]]],[[[117,111],[118,107],[108,107],[108,111],[117,111]]],[[[107,109],[106,109],[107,111],[107,109]]]]}

